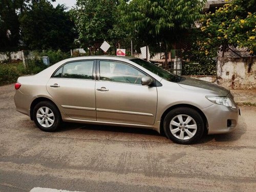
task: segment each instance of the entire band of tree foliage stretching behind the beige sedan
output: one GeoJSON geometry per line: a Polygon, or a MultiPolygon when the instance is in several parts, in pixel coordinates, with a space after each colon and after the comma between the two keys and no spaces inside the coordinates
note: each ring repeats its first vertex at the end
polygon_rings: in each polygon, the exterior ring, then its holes
{"type": "Polygon", "coordinates": [[[255,0],[233,0],[206,15],[206,0],[77,0],[70,11],[54,8],[53,1],[0,0],[0,51],[17,47],[19,40],[29,49],[69,50],[75,41],[96,50],[104,40],[116,48],[120,41],[128,47],[133,39],[135,46],[167,54],[195,34],[190,39],[197,42],[194,51],[209,58],[229,46],[256,52],[255,0]],[[198,20],[201,32],[191,33],[198,20]]]}

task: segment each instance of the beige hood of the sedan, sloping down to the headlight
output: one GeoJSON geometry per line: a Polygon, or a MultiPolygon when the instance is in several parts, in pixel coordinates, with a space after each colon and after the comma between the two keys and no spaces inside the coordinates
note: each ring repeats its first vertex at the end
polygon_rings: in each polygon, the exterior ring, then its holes
{"type": "Polygon", "coordinates": [[[229,90],[221,86],[218,86],[218,84],[214,84],[211,82],[194,79],[190,77],[185,77],[185,80],[178,82],[178,84],[180,85],[180,87],[185,89],[193,89],[193,90],[198,90],[198,88],[206,89],[219,96],[226,96],[229,93],[229,90]]]}

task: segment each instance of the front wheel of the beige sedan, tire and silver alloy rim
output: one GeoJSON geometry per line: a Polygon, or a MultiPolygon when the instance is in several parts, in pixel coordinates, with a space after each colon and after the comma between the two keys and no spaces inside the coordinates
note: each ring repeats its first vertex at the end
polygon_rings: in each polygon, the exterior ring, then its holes
{"type": "Polygon", "coordinates": [[[170,140],[179,144],[198,142],[204,134],[204,121],[194,109],[180,107],[168,112],[163,130],[170,140]]]}

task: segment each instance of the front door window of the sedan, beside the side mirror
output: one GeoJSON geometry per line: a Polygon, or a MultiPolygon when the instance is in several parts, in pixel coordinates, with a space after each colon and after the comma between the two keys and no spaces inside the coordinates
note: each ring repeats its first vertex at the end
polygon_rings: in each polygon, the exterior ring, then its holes
{"type": "Polygon", "coordinates": [[[100,80],[141,84],[141,78],[146,76],[137,69],[115,61],[100,61],[100,80]]]}

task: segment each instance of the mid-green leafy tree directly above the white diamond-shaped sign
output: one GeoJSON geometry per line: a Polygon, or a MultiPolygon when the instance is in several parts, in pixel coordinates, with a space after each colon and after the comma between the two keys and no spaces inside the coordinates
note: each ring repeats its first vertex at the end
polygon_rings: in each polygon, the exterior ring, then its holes
{"type": "Polygon", "coordinates": [[[126,36],[118,0],[77,0],[76,5],[72,15],[78,31],[77,45],[96,52],[104,40],[116,46],[126,36]]]}

